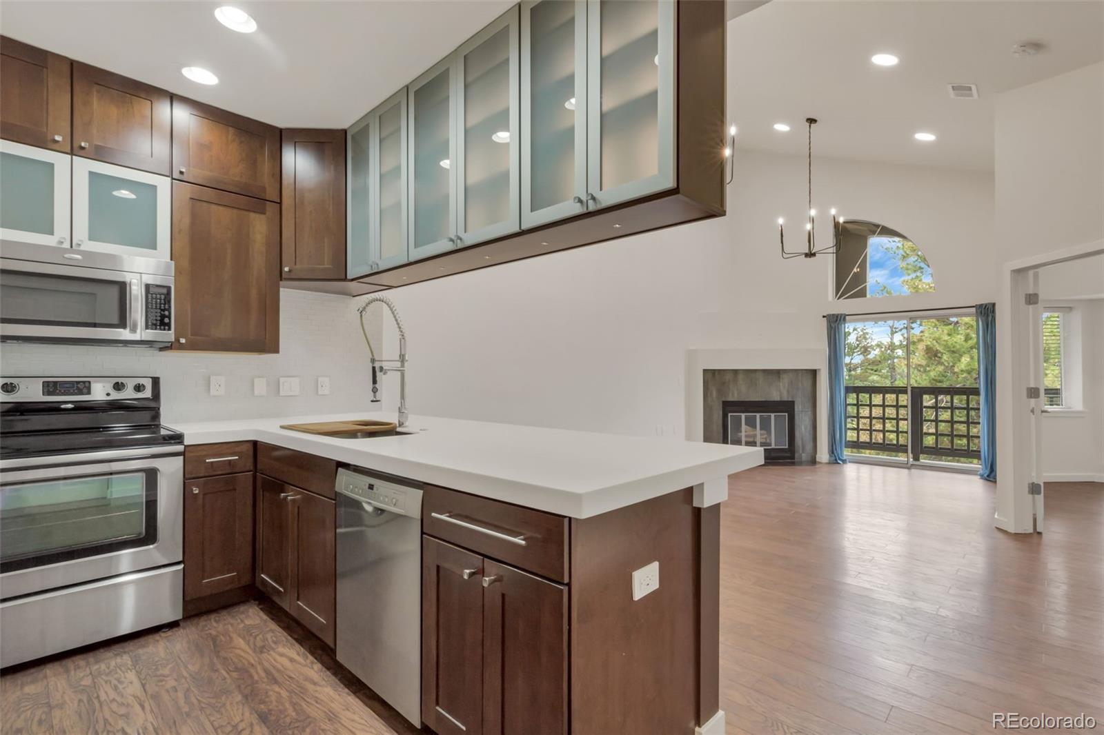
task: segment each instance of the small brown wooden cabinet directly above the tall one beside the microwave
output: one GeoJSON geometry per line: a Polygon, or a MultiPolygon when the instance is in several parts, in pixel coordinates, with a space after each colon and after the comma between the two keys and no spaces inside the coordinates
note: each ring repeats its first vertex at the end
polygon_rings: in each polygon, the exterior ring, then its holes
{"type": "Polygon", "coordinates": [[[172,98],[172,175],[279,201],[279,128],[183,97],[172,98]]]}

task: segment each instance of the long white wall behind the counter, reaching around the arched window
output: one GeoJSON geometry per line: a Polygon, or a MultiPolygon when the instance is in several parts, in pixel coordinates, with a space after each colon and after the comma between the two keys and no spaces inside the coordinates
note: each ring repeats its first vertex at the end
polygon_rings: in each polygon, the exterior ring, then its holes
{"type": "Polygon", "coordinates": [[[412,414],[683,436],[689,349],[824,350],[826,311],[994,298],[989,175],[815,161],[817,203],[907,234],[937,288],[834,302],[830,257],[778,256],[777,216],[795,245],[804,232],[804,158],[737,151],[735,167],[725,217],[391,292],[412,414]]]}

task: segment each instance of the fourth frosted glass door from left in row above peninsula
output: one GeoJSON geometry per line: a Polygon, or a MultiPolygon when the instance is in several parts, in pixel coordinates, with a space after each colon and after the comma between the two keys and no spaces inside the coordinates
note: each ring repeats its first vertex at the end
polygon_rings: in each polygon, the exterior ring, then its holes
{"type": "Polygon", "coordinates": [[[520,228],[519,15],[513,7],[457,54],[457,246],[520,228]]]}

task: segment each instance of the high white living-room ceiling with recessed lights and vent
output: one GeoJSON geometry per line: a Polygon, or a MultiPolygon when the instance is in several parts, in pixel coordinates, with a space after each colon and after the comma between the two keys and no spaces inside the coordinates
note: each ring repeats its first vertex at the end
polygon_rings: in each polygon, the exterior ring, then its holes
{"type": "Polygon", "coordinates": [[[729,109],[737,148],[805,156],[815,117],[815,157],[991,170],[994,96],[1102,57],[1104,2],[774,0],[729,23],[729,109]],[[1012,56],[1025,41],[1043,50],[1012,56]],[[878,52],[901,63],[875,66],[878,52]],[[952,99],[949,83],[980,98],[952,99]]]}

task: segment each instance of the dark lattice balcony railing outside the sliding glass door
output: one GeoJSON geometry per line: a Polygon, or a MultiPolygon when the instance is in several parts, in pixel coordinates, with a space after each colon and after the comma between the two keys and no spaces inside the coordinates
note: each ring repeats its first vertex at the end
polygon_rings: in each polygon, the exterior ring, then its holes
{"type": "Polygon", "coordinates": [[[914,460],[980,462],[980,391],[848,385],[846,446],[914,460]]]}

